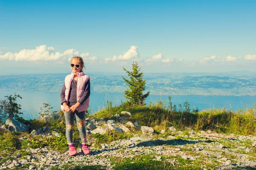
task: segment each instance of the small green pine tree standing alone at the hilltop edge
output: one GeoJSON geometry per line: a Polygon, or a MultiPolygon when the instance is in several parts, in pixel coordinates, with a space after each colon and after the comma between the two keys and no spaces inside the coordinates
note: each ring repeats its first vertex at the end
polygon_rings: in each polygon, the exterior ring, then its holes
{"type": "Polygon", "coordinates": [[[127,83],[127,86],[129,86],[128,89],[125,89],[125,98],[127,99],[128,104],[144,105],[145,99],[149,95],[149,91],[146,94],[143,94],[146,86],[146,80],[143,80],[143,72],[140,72],[141,68],[139,68],[137,61],[135,61],[135,63],[133,62],[131,65],[131,72],[123,67],[130,77],[130,80],[122,77],[125,83],[127,83]]]}

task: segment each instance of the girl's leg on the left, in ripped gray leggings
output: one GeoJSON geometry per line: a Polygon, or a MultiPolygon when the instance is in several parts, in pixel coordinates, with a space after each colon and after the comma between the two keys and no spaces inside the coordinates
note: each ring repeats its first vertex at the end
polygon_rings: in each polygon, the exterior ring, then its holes
{"type": "Polygon", "coordinates": [[[65,120],[66,120],[66,137],[67,144],[73,144],[73,127],[74,127],[74,113],[72,112],[64,112],[65,120]]]}

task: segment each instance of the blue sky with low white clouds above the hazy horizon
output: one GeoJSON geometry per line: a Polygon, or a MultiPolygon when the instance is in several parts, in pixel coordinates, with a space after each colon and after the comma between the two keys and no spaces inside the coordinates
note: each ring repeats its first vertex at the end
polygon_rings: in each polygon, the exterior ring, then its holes
{"type": "Polygon", "coordinates": [[[0,74],[256,71],[255,0],[0,0],[0,74]]]}

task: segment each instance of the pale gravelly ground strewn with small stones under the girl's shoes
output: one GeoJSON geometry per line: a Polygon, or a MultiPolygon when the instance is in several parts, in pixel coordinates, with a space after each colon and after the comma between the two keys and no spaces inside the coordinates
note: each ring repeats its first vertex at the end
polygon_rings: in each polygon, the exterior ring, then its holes
{"type": "MultiPolygon", "coordinates": [[[[152,160],[171,163],[179,167],[184,162],[190,166],[200,164],[206,169],[246,170],[256,168],[256,137],[236,136],[225,139],[211,137],[207,133],[190,133],[190,135],[169,135],[163,138],[153,136],[134,136],[132,138],[101,144],[101,147],[90,147],[91,154],[69,156],[68,152],[59,153],[48,148],[28,149],[31,155],[25,158],[7,160],[0,169],[27,167],[27,169],[50,170],[64,164],[101,165],[112,170],[118,159],[131,158],[137,155],[148,155],[152,160]]],[[[18,155],[19,153],[17,153],[18,155]]],[[[167,168],[168,169],[168,168],[167,168]]]]}

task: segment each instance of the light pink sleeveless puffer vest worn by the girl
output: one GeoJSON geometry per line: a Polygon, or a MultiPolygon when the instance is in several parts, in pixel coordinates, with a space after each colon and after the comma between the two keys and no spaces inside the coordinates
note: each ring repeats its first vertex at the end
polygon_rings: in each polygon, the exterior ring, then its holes
{"type": "MultiPolygon", "coordinates": [[[[77,79],[77,88],[76,88],[76,100],[79,101],[82,95],[84,94],[84,85],[85,83],[90,80],[89,75],[85,75],[84,72],[79,72],[77,73],[78,79],[77,79]]],[[[68,102],[68,95],[70,92],[70,86],[71,86],[71,81],[74,78],[74,73],[72,72],[70,75],[67,75],[65,78],[65,99],[68,102]]],[[[87,98],[86,101],[84,101],[83,104],[81,104],[77,109],[78,112],[82,112],[84,110],[87,110],[89,107],[89,101],[90,98],[87,98]]],[[[61,109],[64,110],[64,106],[61,104],[61,109]]]]}

